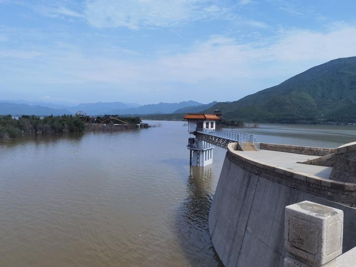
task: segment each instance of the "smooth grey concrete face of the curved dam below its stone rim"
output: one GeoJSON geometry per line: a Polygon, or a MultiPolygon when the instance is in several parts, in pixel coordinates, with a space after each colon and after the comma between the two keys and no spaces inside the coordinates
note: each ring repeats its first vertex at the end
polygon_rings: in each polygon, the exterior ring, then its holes
{"type": "Polygon", "coordinates": [[[304,200],[343,210],[343,252],[356,246],[356,209],[252,172],[232,154],[226,154],[209,215],[212,242],[226,267],[282,267],[285,206],[304,200]]]}

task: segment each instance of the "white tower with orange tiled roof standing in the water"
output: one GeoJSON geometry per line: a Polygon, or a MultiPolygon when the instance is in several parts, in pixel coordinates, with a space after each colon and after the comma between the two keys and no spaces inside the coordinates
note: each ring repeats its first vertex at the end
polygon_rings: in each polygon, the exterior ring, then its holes
{"type": "Polygon", "coordinates": [[[196,138],[197,131],[214,131],[216,121],[220,119],[216,114],[190,114],[184,116],[188,120],[188,132],[195,138],[189,138],[188,149],[190,150],[190,165],[206,166],[213,163],[214,146],[196,138]]]}

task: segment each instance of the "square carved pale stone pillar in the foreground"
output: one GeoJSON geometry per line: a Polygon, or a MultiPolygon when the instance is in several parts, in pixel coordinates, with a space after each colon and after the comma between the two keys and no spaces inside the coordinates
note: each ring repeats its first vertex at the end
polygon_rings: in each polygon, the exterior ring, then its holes
{"type": "Polygon", "coordinates": [[[341,255],[343,220],[341,210],[310,201],[286,206],[284,266],[320,267],[341,255]]]}

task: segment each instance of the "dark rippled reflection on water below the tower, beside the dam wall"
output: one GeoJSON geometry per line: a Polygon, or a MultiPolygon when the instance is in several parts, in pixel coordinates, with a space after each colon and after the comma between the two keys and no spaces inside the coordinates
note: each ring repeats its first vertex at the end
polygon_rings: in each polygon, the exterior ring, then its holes
{"type": "Polygon", "coordinates": [[[212,169],[191,166],[187,197],[177,209],[174,220],[177,240],[191,266],[224,266],[211,243],[208,229],[212,191],[212,169]]]}

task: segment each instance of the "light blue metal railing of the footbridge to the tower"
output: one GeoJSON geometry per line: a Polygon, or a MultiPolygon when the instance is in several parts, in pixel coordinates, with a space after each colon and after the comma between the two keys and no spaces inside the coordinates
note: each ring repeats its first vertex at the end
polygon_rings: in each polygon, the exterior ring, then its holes
{"type": "Polygon", "coordinates": [[[260,148],[259,142],[257,142],[253,134],[236,133],[236,132],[223,131],[223,130],[214,130],[209,128],[196,128],[196,131],[198,133],[208,134],[208,135],[238,142],[243,150],[245,149],[246,142],[252,142],[257,150],[259,150],[260,148]]]}

